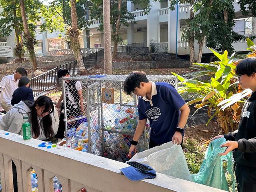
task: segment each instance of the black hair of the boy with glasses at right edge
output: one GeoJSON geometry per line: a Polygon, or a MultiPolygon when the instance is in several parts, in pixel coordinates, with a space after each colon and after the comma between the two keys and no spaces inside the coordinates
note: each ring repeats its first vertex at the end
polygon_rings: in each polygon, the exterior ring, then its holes
{"type": "Polygon", "coordinates": [[[248,75],[256,73],[256,57],[248,57],[243,59],[236,66],[236,74],[239,75],[248,75]]]}

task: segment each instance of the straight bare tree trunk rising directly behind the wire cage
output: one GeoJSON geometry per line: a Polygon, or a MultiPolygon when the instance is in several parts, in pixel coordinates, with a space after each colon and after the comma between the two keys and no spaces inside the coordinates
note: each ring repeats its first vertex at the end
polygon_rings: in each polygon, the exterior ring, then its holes
{"type": "Polygon", "coordinates": [[[110,0],[103,0],[104,74],[112,74],[110,0]]]}

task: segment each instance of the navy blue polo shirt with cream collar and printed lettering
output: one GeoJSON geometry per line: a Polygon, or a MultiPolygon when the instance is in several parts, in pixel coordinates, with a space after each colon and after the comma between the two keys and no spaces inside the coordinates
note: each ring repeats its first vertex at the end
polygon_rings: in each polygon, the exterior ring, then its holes
{"type": "Polygon", "coordinates": [[[180,118],[180,108],[186,103],[174,86],[165,82],[151,82],[151,96],[139,97],[139,119],[150,121],[150,139],[156,144],[172,141],[180,118]]]}

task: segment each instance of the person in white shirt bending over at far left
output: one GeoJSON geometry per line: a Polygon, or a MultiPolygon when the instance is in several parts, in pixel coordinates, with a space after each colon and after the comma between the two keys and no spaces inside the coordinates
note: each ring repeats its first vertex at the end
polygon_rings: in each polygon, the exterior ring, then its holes
{"type": "Polygon", "coordinates": [[[12,94],[18,88],[19,80],[22,76],[27,76],[27,72],[23,67],[18,67],[15,74],[7,75],[0,82],[0,104],[6,112],[12,108],[12,94]]]}

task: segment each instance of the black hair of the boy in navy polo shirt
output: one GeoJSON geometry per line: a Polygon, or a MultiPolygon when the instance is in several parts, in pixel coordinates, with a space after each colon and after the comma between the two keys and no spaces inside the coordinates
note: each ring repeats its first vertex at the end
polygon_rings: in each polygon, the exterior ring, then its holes
{"type": "Polygon", "coordinates": [[[130,95],[136,87],[140,88],[140,82],[147,83],[148,78],[144,72],[134,71],[124,81],[124,92],[130,95]]]}

